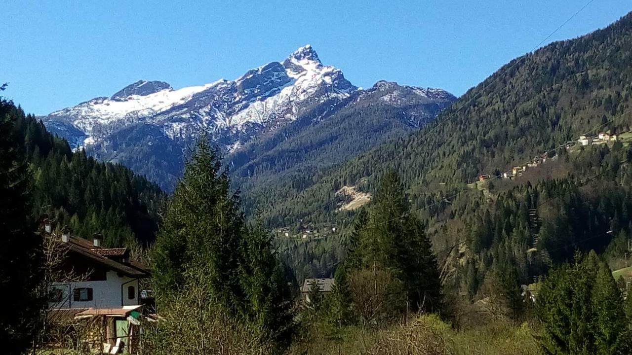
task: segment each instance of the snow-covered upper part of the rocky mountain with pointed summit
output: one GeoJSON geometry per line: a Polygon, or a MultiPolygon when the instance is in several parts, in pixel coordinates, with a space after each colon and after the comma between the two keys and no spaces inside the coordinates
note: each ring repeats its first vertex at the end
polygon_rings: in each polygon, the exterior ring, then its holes
{"type": "Polygon", "coordinates": [[[173,140],[210,131],[232,146],[234,140],[250,139],[250,131],[274,129],[315,104],[343,100],[355,90],[342,71],[324,66],[306,45],[283,62],[251,69],[233,81],[174,90],[164,81],[139,80],[109,98],[97,97],[43,119],[60,135],[73,132],[67,138],[77,146],[97,145],[137,124],[151,124],[173,140]]]}

